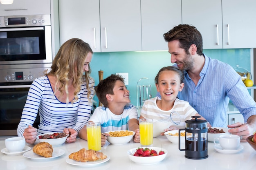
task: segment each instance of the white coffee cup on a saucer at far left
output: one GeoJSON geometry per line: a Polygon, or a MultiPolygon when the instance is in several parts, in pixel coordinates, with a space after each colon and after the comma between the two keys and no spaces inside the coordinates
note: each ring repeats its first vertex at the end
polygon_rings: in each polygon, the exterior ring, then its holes
{"type": "Polygon", "coordinates": [[[11,137],[5,139],[4,143],[9,152],[21,152],[26,145],[24,137],[11,137]]]}

